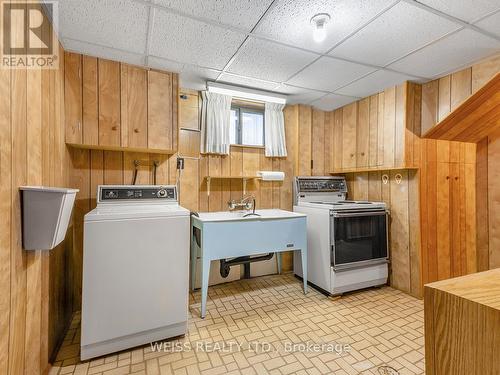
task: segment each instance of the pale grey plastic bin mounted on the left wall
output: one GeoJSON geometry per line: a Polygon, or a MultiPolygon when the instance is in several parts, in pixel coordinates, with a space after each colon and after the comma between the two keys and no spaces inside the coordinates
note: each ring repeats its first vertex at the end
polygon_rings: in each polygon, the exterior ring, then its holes
{"type": "Polygon", "coordinates": [[[23,248],[50,250],[64,240],[78,189],[21,186],[23,248]]]}

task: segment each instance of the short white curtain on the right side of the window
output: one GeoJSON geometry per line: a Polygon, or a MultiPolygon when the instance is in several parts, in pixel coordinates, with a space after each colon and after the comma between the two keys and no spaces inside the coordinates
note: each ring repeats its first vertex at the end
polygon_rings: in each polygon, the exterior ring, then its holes
{"type": "Polygon", "coordinates": [[[286,156],[284,104],[267,103],[265,105],[265,142],[266,156],[286,156]]]}

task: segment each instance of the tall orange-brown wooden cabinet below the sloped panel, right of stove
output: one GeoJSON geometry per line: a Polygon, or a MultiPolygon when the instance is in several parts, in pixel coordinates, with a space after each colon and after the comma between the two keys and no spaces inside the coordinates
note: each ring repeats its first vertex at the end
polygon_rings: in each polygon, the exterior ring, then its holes
{"type": "Polygon", "coordinates": [[[446,153],[424,161],[420,170],[424,283],[476,271],[476,176],[475,163],[469,162],[475,151],[469,144],[453,143],[470,157],[450,161],[446,153]]]}

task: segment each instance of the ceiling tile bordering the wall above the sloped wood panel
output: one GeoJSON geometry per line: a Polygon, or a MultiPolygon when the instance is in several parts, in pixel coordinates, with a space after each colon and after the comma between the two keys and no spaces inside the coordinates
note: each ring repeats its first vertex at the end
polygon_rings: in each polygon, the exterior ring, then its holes
{"type": "Polygon", "coordinates": [[[417,51],[390,68],[433,78],[500,51],[498,40],[464,29],[417,51]]]}

